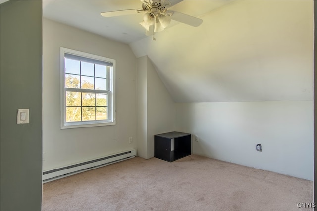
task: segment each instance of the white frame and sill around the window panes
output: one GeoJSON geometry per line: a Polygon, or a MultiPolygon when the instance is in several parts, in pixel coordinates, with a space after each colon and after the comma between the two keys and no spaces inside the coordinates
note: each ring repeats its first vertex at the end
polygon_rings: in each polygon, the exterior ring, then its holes
{"type": "MultiPolygon", "coordinates": [[[[106,58],[103,56],[98,56],[90,53],[85,53],[77,50],[72,50],[64,47],[60,47],[60,128],[80,128],[80,127],[98,127],[98,126],[108,126],[115,125],[115,60],[106,58]],[[66,122],[66,88],[65,87],[65,54],[72,54],[75,56],[85,57],[93,60],[100,60],[107,63],[112,63],[112,67],[109,67],[109,90],[106,92],[108,94],[108,110],[109,115],[108,120],[92,120],[92,121],[78,121],[78,122],[66,122]]],[[[95,77],[95,76],[94,76],[95,77]]],[[[89,89],[76,89],[82,90],[83,92],[89,92],[89,89]]],[[[99,91],[94,90],[98,93],[99,91]]],[[[80,106],[82,108],[82,105],[80,106]]]]}

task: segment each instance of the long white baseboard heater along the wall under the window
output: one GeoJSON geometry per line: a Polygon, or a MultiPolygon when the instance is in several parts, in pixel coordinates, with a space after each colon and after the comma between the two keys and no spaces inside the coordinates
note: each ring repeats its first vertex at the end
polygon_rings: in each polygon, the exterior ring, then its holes
{"type": "Polygon", "coordinates": [[[113,164],[119,161],[134,158],[135,155],[136,155],[135,150],[130,150],[125,152],[120,152],[117,154],[111,154],[103,158],[98,158],[98,159],[70,165],[67,167],[43,171],[42,180],[43,180],[43,183],[53,181],[55,179],[59,179],[65,176],[70,176],[70,175],[80,173],[83,171],[96,169],[96,168],[113,164]]]}

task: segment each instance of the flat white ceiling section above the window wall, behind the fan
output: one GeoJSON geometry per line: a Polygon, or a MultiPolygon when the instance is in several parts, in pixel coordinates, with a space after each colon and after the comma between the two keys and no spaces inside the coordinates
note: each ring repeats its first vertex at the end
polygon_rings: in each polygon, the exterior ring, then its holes
{"type": "MultiPolygon", "coordinates": [[[[230,1],[204,0],[194,2],[185,0],[171,9],[200,16],[230,1]]],[[[105,18],[101,12],[142,9],[140,0],[44,0],[43,16],[71,25],[106,38],[123,43],[131,43],[145,38],[145,29],[139,24],[143,14],[105,18]]],[[[172,21],[169,27],[178,24],[172,21]]]]}

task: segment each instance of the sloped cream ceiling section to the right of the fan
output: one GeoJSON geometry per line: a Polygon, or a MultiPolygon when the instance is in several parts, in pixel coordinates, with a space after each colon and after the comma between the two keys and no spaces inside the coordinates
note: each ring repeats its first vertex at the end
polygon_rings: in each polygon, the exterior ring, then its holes
{"type": "Polygon", "coordinates": [[[235,1],[200,18],[130,44],[176,102],[312,100],[312,1],[235,1]]]}

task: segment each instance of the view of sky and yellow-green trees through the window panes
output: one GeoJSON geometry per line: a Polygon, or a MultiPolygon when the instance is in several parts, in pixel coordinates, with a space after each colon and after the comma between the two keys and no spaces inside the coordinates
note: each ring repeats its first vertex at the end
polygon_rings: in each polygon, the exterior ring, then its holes
{"type": "Polygon", "coordinates": [[[107,69],[65,58],[66,122],[108,119],[107,69]]]}

